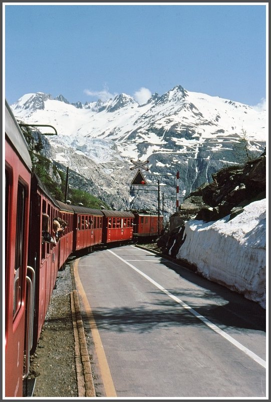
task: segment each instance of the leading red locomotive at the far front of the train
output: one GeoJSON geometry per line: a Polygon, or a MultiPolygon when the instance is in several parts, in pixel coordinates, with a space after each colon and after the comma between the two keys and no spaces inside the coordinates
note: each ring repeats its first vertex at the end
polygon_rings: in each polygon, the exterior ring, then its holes
{"type": "Polygon", "coordinates": [[[138,239],[155,240],[163,230],[163,216],[154,214],[151,211],[132,211],[134,219],[134,237],[138,239]]]}

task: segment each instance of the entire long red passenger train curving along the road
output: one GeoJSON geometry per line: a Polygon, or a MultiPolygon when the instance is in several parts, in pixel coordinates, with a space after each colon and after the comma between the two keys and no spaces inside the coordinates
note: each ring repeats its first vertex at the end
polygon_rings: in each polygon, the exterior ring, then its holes
{"type": "Polygon", "coordinates": [[[58,270],[78,250],[157,238],[163,218],[147,211],[96,210],[56,200],[32,163],[24,135],[6,102],[5,112],[5,393],[31,396],[30,355],[36,350],[58,270]],[[58,242],[54,218],[65,221],[58,242]],[[53,240],[53,239],[52,239],[53,240]]]}

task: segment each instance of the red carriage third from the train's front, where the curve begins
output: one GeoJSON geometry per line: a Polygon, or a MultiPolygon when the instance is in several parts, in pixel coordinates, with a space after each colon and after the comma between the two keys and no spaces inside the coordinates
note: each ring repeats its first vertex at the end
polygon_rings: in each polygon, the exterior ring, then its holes
{"type": "Polygon", "coordinates": [[[102,242],[102,219],[100,210],[72,206],[74,211],[73,251],[91,248],[102,242]]]}

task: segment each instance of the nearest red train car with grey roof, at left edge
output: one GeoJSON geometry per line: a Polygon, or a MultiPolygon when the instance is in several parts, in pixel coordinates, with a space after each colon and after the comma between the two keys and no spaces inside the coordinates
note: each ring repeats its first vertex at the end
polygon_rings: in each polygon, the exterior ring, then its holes
{"type": "Polygon", "coordinates": [[[6,102],[5,395],[8,397],[23,395],[23,378],[29,372],[34,298],[33,273],[27,266],[31,170],[27,142],[6,102]]]}

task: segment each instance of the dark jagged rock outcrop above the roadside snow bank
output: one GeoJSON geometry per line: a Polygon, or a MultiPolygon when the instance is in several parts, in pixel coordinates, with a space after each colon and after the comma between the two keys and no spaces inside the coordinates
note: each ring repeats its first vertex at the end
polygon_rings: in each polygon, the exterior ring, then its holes
{"type": "Polygon", "coordinates": [[[169,219],[169,228],[157,241],[164,254],[175,258],[182,244],[184,223],[190,220],[213,222],[266,197],[266,154],[243,166],[230,166],[212,174],[213,181],[191,192],[169,219]]]}

